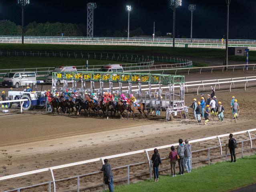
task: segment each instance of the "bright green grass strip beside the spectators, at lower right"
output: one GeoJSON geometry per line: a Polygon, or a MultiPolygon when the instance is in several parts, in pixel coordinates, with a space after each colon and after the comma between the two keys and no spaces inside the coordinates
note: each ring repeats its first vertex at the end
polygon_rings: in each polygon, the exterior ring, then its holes
{"type": "Polygon", "coordinates": [[[256,183],[255,165],[256,155],[252,155],[240,158],[236,163],[219,162],[196,168],[177,177],[160,176],[159,182],[145,180],[117,186],[115,192],[228,192],[256,183]]]}

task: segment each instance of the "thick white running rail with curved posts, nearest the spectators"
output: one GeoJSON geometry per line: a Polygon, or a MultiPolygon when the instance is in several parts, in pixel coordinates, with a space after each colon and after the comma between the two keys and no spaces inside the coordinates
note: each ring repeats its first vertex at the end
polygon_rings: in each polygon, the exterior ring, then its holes
{"type": "MultiPolygon", "coordinates": [[[[255,131],[256,131],[256,128],[250,129],[250,130],[245,130],[245,131],[240,131],[240,132],[234,132],[232,134],[233,135],[248,134],[248,138],[249,138],[249,141],[250,141],[250,148],[252,149],[253,146],[252,146],[251,133],[255,132],[255,131]]],[[[192,144],[192,143],[196,143],[196,142],[202,142],[202,141],[208,141],[208,140],[217,139],[218,143],[219,143],[219,147],[220,147],[220,155],[222,155],[221,138],[228,137],[228,136],[229,136],[229,134],[222,134],[222,135],[217,135],[217,136],[211,136],[211,137],[191,140],[189,143],[192,144]]],[[[171,146],[177,146],[177,145],[179,145],[179,144],[178,143],[174,143],[174,144],[169,144],[169,145],[165,145],[165,146],[158,146],[158,147],[154,147],[154,148],[147,148],[147,149],[137,150],[137,151],[133,151],[133,152],[126,152],[126,153],[122,153],[122,154],[115,154],[115,155],[111,155],[111,156],[104,156],[104,157],[94,158],[94,159],[90,159],[90,160],[74,162],[74,163],[70,163],[70,164],[53,166],[53,167],[43,168],[43,169],[39,169],[39,170],[33,170],[33,171],[29,171],[29,172],[23,172],[23,173],[19,173],[19,174],[3,176],[3,177],[0,177],[0,180],[8,180],[8,179],[12,179],[12,178],[21,177],[21,176],[37,174],[37,173],[41,173],[41,172],[50,172],[50,174],[52,176],[52,181],[50,181],[50,182],[53,183],[54,192],[55,192],[56,191],[56,186],[55,186],[56,180],[54,179],[54,172],[53,172],[53,170],[57,170],[57,169],[60,169],[60,168],[67,168],[67,167],[71,167],[71,166],[82,165],[82,164],[89,164],[89,163],[98,162],[98,161],[100,161],[100,162],[102,162],[102,164],[104,164],[104,161],[103,161],[104,159],[113,159],[113,158],[119,158],[119,157],[124,157],[124,156],[135,155],[135,154],[145,154],[145,157],[147,158],[147,162],[149,164],[149,167],[151,167],[151,160],[149,158],[148,152],[153,151],[155,148],[160,150],[160,149],[170,148],[171,146]]],[[[209,163],[210,163],[210,161],[209,161],[209,163]]],[[[19,191],[19,189],[18,189],[18,191],[19,191]]]]}

